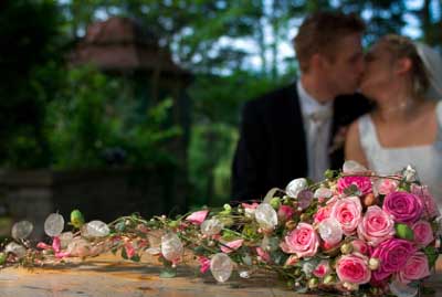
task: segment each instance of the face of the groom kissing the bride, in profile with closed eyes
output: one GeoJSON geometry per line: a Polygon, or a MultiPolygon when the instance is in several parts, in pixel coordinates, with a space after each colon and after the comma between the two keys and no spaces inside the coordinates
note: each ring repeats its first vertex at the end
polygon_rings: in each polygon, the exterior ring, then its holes
{"type": "Polygon", "coordinates": [[[343,38],[335,46],[327,66],[328,85],[335,96],[352,94],[358,88],[365,68],[359,33],[343,38]]]}

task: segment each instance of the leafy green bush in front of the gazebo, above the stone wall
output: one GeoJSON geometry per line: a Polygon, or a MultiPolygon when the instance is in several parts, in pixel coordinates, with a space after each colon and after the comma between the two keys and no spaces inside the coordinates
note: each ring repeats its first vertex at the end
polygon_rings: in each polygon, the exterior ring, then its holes
{"type": "Polygon", "coordinates": [[[173,163],[168,149],[180,135],[167,125],[172,99],[143,108],[125,78],[93,67],[72,68],[46,107],[45,134],[55,169],[173,163]]]}

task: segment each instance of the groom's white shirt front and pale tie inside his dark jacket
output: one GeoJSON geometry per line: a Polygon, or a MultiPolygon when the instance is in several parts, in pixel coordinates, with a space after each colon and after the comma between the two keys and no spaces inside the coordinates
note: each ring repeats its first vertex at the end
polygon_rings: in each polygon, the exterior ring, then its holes
{"type": "Polygon", "coordinates": [[[308,178],[314,181],[324,179],[329,168],[328,141],[332,130],[333,102],[320,104],[312,97],[297,81],[301,112],[306,136],[308,178]]]}

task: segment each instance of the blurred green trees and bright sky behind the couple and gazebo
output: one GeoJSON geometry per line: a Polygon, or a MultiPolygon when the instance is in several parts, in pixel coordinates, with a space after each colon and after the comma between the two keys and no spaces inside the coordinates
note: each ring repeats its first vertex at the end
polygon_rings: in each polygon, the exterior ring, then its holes
{"type": "Polygon", "coordinates": [[[295,78],[290,41],[307,13],[325,9],[364,17],[366,45],[390,32],[442,42],[435,0],[3,0],[0,167],[173,166],[189,205],[222,204],[242,104],[295,78]],[[137,70],[72,63],[87,28],[113,17],[170,53],[187,73],[185,92],[137,70]]]}

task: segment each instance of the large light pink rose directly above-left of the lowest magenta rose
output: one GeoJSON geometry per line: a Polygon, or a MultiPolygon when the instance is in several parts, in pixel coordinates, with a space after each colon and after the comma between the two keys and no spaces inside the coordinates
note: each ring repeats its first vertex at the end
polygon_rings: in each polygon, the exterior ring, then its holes
{"type": "Polygon", "coordinates": [[[393,219],[378,205],[369,206],[358,225],[359,238],[371,246],[391,238],[394,235],[393,219]]]}

